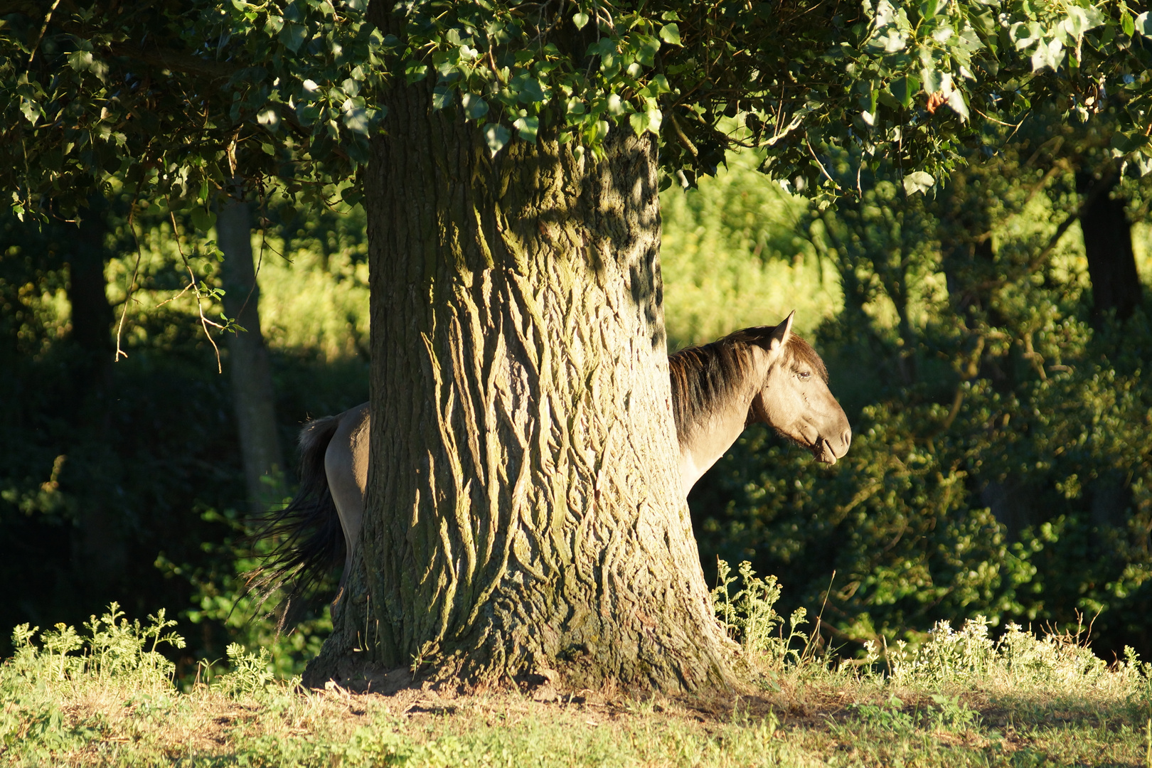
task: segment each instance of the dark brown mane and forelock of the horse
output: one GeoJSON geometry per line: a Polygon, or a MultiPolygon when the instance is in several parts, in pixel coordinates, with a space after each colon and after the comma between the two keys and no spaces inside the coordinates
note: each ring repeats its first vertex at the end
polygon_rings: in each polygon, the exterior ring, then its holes
{"type": "MultiPolygon", "coordinates": [[[[766,348],[776,326],[755,326],[722,339],[689,347],[668,357],[672,406],[681,444],[691,436],[708,413],[736,398],[751,367],[751,347],[766,348]]],[[[806,341],[791,334],[786,347],[789,362],[806,364],[825,383],[828,370],[806,341]]]]}

